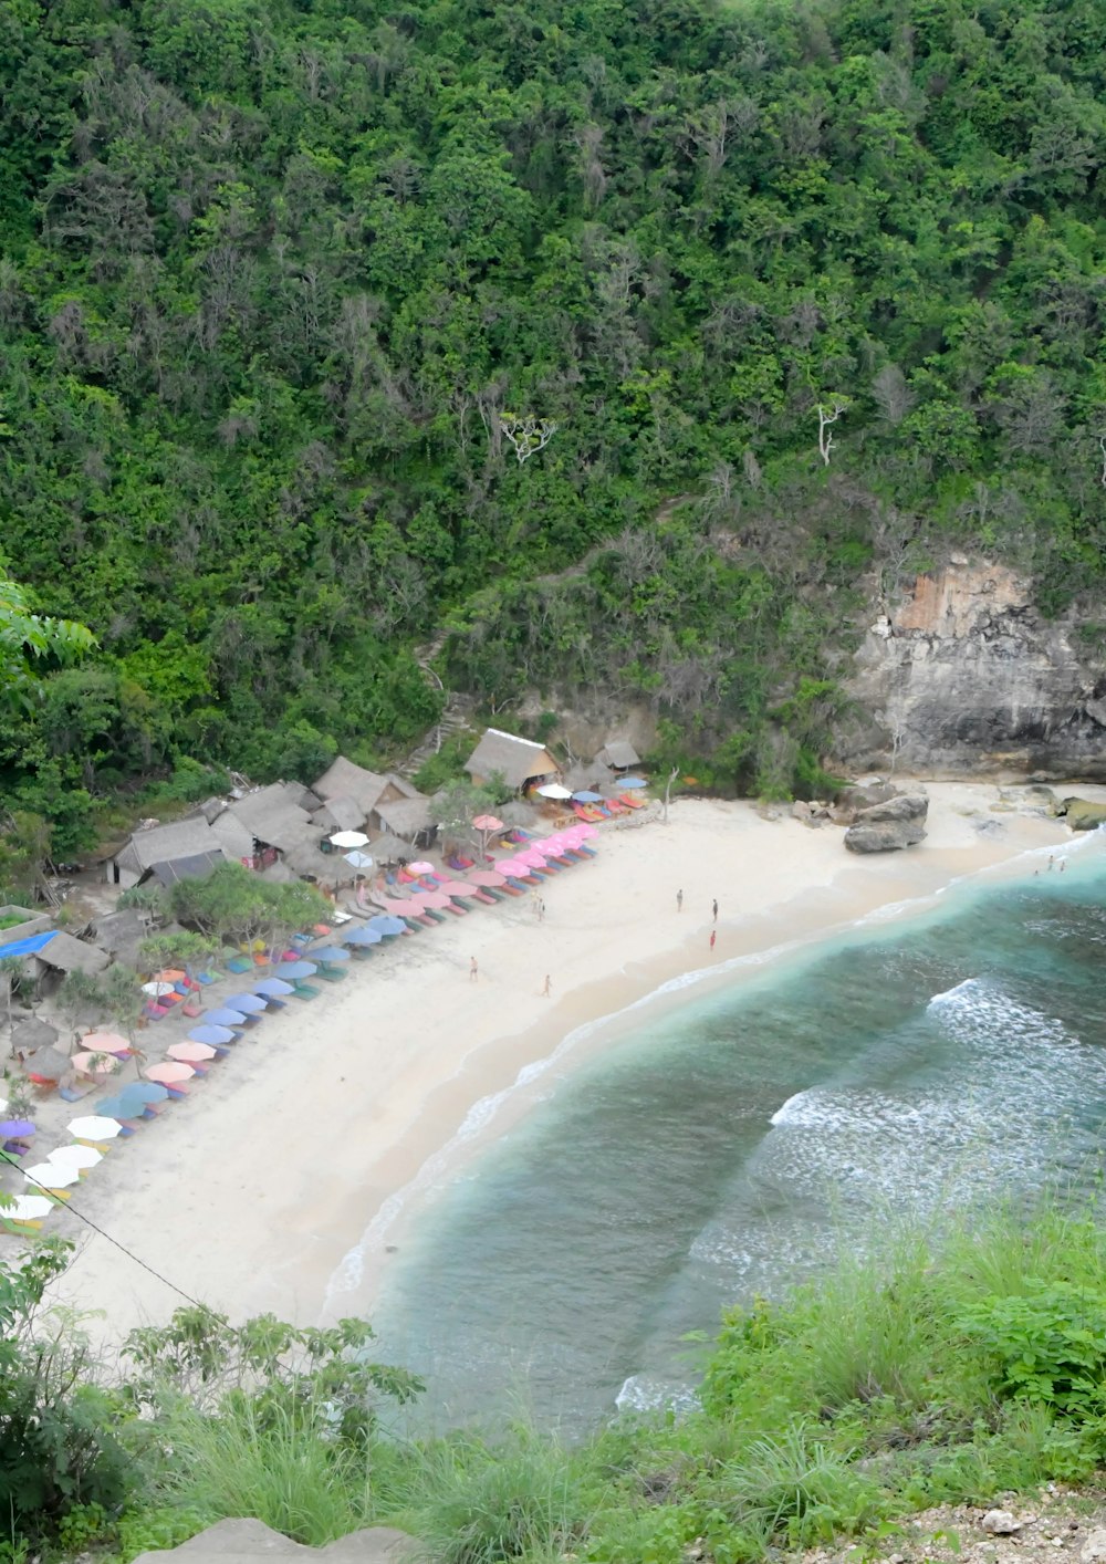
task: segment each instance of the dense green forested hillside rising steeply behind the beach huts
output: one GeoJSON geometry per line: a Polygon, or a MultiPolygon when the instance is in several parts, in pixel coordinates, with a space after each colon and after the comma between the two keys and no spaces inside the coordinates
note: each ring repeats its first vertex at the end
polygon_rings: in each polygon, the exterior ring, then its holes
{"type": "Polygon", "coordinates": [[[1100,0],[0,22],[0,541],[102,647],[16,796],[402,749],[443,626],[501,710],[787,773],[862,591],[956,543],[1098,590],[1100,0]]]}

